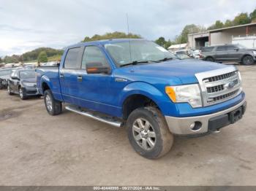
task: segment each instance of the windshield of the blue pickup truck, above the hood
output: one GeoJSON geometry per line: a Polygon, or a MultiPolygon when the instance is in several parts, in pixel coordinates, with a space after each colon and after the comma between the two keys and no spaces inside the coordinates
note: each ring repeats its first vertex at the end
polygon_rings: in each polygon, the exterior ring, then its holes
{"type": "Polygon", "coordinates": [[[165,58],[176,58],[175,55],[154,42],[131,40],[105,44],[116,65],[122,66],[135,61],[160,61],[165,58]]]}

